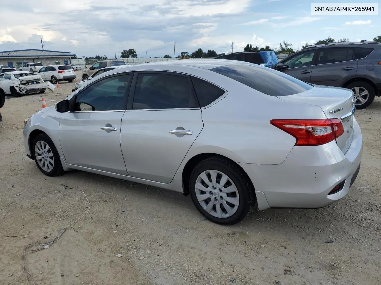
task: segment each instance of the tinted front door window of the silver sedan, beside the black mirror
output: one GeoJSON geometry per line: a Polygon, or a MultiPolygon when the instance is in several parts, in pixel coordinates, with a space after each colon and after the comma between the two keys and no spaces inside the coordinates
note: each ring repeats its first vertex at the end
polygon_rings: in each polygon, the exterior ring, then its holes
{"type": "Polygon", "coordinates": [[[91,84],[78,94],[74,111],[124,110],[125,91],[130,79],[130,74],[121,74],[91,84]]]}

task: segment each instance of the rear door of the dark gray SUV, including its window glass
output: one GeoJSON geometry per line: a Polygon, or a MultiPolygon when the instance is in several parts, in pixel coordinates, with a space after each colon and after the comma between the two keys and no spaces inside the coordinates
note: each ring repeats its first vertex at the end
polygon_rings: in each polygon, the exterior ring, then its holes
{"type": "Polygon", "coordinates": [[[311,83],[341,87],[357,72],[357,59],[352,47],[323,47],[311,72],[311,83]]]}

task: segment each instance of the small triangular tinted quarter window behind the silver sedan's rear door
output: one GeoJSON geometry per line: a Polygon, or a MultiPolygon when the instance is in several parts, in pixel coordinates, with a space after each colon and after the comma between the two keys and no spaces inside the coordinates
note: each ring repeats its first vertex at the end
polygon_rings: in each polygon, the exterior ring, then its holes
{"type": "Polygon", "coordinates": [[[201,108],[213,103],[225,93],[225,90],[197,77],[192,77],[192,83],[201,108]]]}

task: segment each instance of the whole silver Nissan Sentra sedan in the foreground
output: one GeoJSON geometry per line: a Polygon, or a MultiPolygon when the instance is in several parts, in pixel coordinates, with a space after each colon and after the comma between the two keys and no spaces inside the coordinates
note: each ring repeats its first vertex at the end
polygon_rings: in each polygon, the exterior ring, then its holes
{"type": "Polygon", "coordinates": [[[353,98],[247,62],[152,62],[41,109],[24,146],[47,176],[78,169],[183,192],[231,225],[255,205],[317,208],[349,192],[362,156],[353,98]]]}

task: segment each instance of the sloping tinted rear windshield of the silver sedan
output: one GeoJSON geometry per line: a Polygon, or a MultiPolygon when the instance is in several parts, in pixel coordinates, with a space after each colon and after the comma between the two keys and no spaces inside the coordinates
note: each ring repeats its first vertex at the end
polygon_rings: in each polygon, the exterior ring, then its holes
{"type": "Polygon", "coordinates": [[[211,71],[227,76],[270,96],[301,93],[313,86],[269,67],[251,64],[232,64],[212,68],[211,71]]]}

